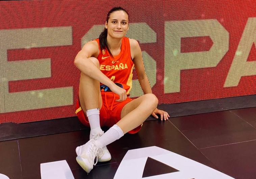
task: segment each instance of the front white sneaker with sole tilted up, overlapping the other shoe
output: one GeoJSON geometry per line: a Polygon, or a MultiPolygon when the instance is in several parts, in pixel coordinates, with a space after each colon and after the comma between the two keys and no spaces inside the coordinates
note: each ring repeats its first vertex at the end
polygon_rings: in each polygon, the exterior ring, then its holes
{"type": "Polygon", "coordinates": [[[103,155],[102,148],[97,147],[94,144],[94,141],[94,139],[89,140],[86,144],[76,148],[76,161],[87,173],[89,173],[93,169],[93,166],[97,164],[98,156],[101,157],[103,155]]]}

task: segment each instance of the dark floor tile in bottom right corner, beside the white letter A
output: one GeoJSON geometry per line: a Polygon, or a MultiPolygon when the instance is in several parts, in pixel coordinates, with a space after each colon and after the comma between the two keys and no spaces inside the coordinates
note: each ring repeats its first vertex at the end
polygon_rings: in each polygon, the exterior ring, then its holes
{"type": "Polygon", "coordinates": [[[209,160],[235,178],[256,178],[256,140],[200,149],[209,160]]]}

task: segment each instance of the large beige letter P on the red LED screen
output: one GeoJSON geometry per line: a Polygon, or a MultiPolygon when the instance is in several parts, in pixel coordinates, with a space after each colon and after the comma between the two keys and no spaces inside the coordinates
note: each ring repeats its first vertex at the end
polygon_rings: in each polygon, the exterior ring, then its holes
{"type": "Polygon", "coordinates": [[[180,71],[215,67],[229,47],[229,33],[217,20],[165,22],[164,93],[180,91],[180,71]],[[181,53],[182,37],[210,36],[213,45],[206,52],[181,53]]]}

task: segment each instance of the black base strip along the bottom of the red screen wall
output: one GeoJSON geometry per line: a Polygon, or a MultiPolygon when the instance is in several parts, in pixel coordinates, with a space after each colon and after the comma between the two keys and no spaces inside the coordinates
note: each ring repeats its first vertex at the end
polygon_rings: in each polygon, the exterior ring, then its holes
{"type": "MultiPolygon", "coordinates": [[[[158,109],[167,111],[171,117],[256,107],[256,95],[239,96],[203,101],[158,105],[158,109]]],[[[147,120],[155,120],[150,116],[147,120]]],[[[107,128],[105,128],[106,130],[107,128]]],[[[24,124],[0,124],[0,141],[44,136],[55,133],[88,130],[77,117],[30,122],[24,124]]]]}

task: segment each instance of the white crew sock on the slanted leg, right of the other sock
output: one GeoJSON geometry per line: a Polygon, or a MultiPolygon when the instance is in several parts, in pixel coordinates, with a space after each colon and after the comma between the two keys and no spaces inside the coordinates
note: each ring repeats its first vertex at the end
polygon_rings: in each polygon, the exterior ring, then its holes
{"type": "Polygon", "coordinates": [[[124,132],[122,129],[117,125],[113,125],[110,127],[106,133],[104,133],[97,141],[95,141],[95,144],[102,148],[105,147],[106,145],[120,139],[121,137],[124,136],[124,132]]]}

